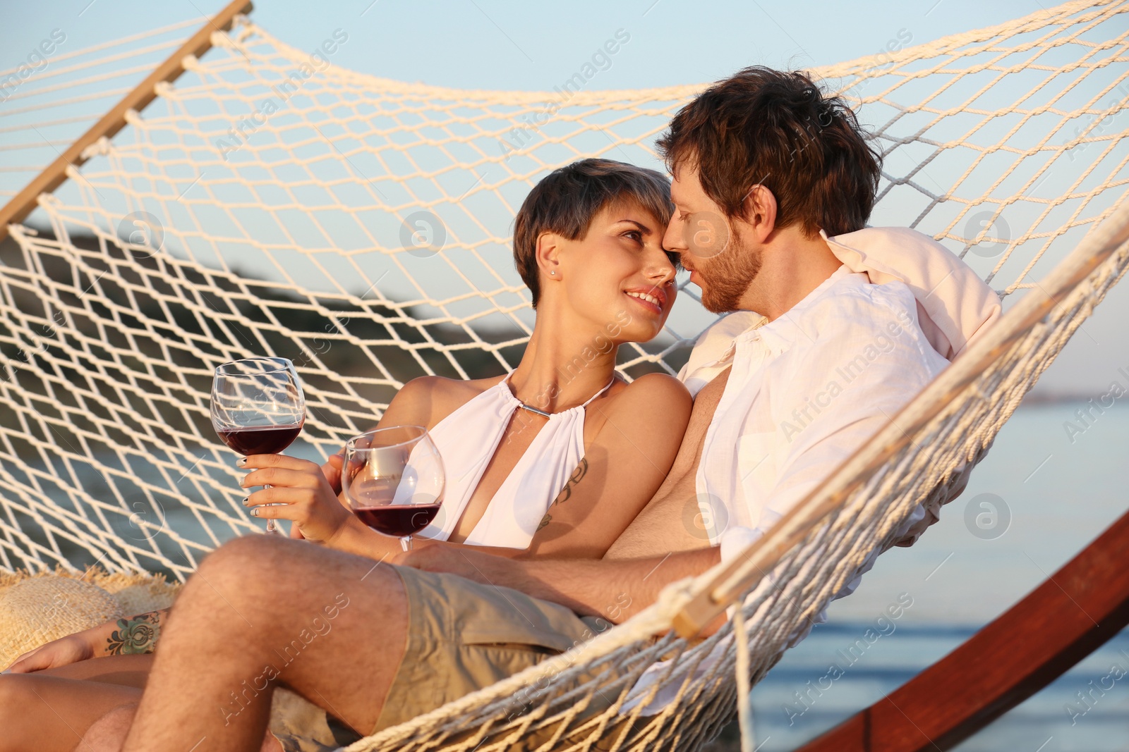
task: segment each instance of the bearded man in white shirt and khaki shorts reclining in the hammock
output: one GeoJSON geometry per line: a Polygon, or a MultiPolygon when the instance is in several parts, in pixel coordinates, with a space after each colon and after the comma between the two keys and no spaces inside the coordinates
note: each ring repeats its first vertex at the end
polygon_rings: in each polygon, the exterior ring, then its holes
{"type": "Polygon", "coordinates": [[[606,557],[430,547],[390,566],[231,541],[181,594],[125,750],[257,749],[277,685],[369,734],[567,649],[762,534],[947,364],[910,290],[868,284],[825,240],[864,227],[879,169],[840,100],[802,73],[747,69],[658,145],[674,176],[664,246],[703,306],[756,316],[723,320],[729,346],[703,338],[691,356],[700,391],[677,457],[606,557]],[[300,655],[277,649],[290,645],[300,655]]]}

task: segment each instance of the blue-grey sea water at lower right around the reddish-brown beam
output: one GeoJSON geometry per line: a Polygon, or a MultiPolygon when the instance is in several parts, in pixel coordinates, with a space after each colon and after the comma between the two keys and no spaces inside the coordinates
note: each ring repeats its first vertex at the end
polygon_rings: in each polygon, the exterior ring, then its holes
{"type": "MultiPolygon", "coordinates": [[[[832,604],[828,623],[754,688],[760,752],[793,750],[882,699],[1129,511],[1127,402],[1129,395],[1102,412],[1097,400],[1016,410],[940,522],[913,547],[883,555],[852,595],[832,604]],[[841,675],[829,676],[832,664],[841,675]]],[[[1129,631],[955,749],[1129,750],[1129,631]]]]}

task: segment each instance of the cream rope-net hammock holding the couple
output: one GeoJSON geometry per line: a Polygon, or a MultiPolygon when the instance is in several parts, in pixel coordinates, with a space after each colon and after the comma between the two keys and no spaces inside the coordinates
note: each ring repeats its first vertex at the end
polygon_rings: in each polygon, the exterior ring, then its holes
{"type": "MultiPolygon", "coordinates": [[[[0,212],[6,570],[97,563],[183,581],[200,555],[260,530],[208,419],[224,361],[295,361],[308,400],[295,451],[312,459],[411,378],[513,368],[532,312],[509,223],[530,186],[581,157],[658,167],[655,136],[702,88],[588,90],[592,65],[553,92],[402,83],[333,65],[358,43],[340,30],[296,50],[238,9],[150,77],[133,100],[152,99],[143,116],[123,108],[77,143],[65,176],[45,170],[29,218],[19,196],[0,212]]],[[[1124,273],[1127,10],[1068,2],[814,70],[885,154],[872,223],[945,242],[1004,317],[737,560],[350,751],[485,752],[539,728],[555,732],[543,749],[606,733],[619,750],[692,750],[735,708],[751,749],[749,688],[914,508],[963,488],[1124,273]],[[734,603],[717,634],[688,639],[734,603]],[[662,682],[632,695],[659,657],[662,682]],[[674,701],[642,715],[659,690],[674,701]],[[586,713],[596,692],[616,699],[586,713]],[[636,723],[618,725],[628,707],[636,723]]],[[[622,348],[621,370],[676,372],[712,320],[684,289],[659,338],[622,348]]]]}

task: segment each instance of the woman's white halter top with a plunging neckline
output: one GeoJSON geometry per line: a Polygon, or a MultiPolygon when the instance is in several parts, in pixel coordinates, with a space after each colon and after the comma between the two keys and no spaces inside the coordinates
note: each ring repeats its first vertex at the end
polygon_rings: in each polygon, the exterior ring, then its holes
{"type": "MultiPolygon", "coordinates": [[[[447,480],[439,514],[420,536],[447,540],[493,458],[514,410],[532,409],[509,390],[510,375],[513,372],[428,432],[439,449],[447,480]]],[[[614,382],[613,378],[584,405],[548,415],[549,421],[490,499],[465,542],[528,547],[549,504],[584,459],[584,409],[614,382]]],[[[533,412],[545,415],[541,410],[533,412]]]]}

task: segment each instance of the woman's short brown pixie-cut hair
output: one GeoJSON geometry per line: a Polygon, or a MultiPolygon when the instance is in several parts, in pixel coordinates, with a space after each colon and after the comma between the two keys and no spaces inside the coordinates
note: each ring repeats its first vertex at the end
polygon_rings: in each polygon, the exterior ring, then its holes
{"type": "MultiPolygon", "coordinates": [[[[542,178],[522,203],[514,220],[514,265],[533,292],[533,307],[541,299],[537,277],[537,238],[555,232],[569,240],[583,239],[592,220],[605,206],[634,201],[666,229],[671,221],[671,180],[656,170],[611,159],[581,159],[542,178]]],[[[677,254],[667,254],[677,264],[677,254]]]]}

